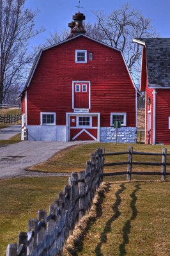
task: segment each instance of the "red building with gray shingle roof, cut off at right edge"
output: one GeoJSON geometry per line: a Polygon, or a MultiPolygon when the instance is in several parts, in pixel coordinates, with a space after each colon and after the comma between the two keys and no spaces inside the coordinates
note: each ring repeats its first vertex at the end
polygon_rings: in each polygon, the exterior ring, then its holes
{"type": "Polygon", "coordinates": [[[143,45],[141,92],[146,92],[145,141],[170,144],[170,38],[135,38],[143,45]]]}

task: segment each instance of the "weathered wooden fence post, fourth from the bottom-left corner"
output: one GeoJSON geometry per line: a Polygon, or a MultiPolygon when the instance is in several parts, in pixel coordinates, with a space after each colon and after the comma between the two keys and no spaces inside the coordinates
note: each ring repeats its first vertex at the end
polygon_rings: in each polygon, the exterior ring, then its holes
{"type": "Polygon", "coordinates": [[[45,210],[38,211],[38,222],[42,221],[43,225],[37,234],[37,242],[40,243],[47,234],[47,212],[45,210]]]}

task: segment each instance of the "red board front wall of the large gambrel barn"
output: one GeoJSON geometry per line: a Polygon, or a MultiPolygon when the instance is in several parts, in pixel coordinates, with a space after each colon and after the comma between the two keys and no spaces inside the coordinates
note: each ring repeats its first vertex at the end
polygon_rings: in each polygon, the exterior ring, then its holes
{"type": "Polygon", "coordinates": [[[72,109],[72,81],[91,82],[90,112],[100,112],[100,125],[110,126],[111,112],[127,113],[135,127],[135,89],[121,52],[80,36],[43,51],[27,89],[27,124],[40,125],[40,112],[56,112],[57,125],[66,125],[72,109]],[[93,61],[75,63],[75,50],[93,52],[93,61]]]}

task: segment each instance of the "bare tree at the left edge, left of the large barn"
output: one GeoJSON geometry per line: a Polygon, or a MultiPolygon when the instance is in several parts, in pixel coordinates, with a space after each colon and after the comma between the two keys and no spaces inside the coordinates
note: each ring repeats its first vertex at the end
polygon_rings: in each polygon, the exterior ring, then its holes
{"type": "Polygon", "coordinates": [[[29,39],[44,31],[35,29],[37,12],[24,9],[25,1],[0,0],[0,104],[10,88],[23,83],[36,53],[27,54],[29,39]]]}

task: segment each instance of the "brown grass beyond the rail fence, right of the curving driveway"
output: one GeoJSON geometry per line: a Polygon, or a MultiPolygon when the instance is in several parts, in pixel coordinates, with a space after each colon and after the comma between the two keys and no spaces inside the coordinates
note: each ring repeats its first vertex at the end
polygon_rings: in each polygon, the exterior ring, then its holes
{"type": "MultiPolygon", "coordinates": [[[[89,161],[89,156],[95,152],[97,148],[105,148],[105,152],[121,152],[127,151],[128,147],[134,147],[134,150],[141,152],[162,152],[162,145],[144,145],[144,144],[118,144],[114,143],[92,143],[85,145],[76,145],[68,148],[52,156],[48,161],[41,164],[31,166],[29,170],[38,172],[74,172],[84,170],[86,168],[86,161],[89,161]]],[[[167,147],[167,152],[170,152],[170,146],[167,147]]],[[[162,161],[161,156],[134,156],[134,161],[162,161]]],[[[127,161],[127,155],[109,156],[105,157],[105,163],[127,161]]],[[[167,162],[170,162],[170,156],[167,157],[167,162]]],[[[160,171],[161,166],[134,166],[133,170],[141,171],[160,171]]],[[[104,172],[120,172],[127,170],[127,166],[112,166],[105,167],[104,172]]],[[[170,166],[167,171],[170,172],[170,166]]],[[[119,178],[120,179],[120,178],[119,178]]],[[[143,177],[142,177],[143,179],[143,177]]],[[[158,179],[158,177],[156,177],[158,179]]]]}

